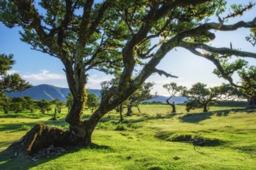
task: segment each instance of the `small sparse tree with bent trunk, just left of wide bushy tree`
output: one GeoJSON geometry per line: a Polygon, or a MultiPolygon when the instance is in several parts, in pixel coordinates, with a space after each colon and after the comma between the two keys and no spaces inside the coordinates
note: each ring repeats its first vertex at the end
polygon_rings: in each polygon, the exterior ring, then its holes
{"type": "Polygon", "coordinates": [[[168,93],[170,94],[170,97],[168,97],[168,99],[166,100],[166,103],[169,104],[171,106],[171,113],[175,113],[176,112],[176,108],[175,108],[175,102],[172,102],[172,104],[169,102],[169,100],[172,97],[176,97],[177,95],[181,94],[183,90],[185,90],[185,87],[182,86],[178,86],[177,83],[167,83],[164,84],[164,89],[168,90],[168,93]]]}

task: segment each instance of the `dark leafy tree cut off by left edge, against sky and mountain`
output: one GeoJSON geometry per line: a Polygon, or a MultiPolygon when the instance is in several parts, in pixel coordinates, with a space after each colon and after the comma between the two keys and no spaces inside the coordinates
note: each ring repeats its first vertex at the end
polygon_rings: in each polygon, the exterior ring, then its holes
{"type": "Polygon", "coordinates": [[[23,91],[31,87],[31,85],[22,80],[19,74],[9,74],[8,70],[12,69],[12,65],[15,63],[13,55],[0,54],[0,93],[11,93],[15,90],[23,91]]]}

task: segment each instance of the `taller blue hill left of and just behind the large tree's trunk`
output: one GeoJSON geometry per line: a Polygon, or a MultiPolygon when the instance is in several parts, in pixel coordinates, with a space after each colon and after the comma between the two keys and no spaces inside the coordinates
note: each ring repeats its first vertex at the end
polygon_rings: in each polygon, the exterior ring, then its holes
{"type": "MultiPolygon", "coordinates": [[[[90,93],[95,93],[97,96],[100,95],[100,90],[90,89],[90,93]]],[[[38,86],[31,87],[24,91],[15,91],[13,93],[5,93],[8,97],[25,97],[29,96],[33,100],[54,100],[59,99],[66,101],[67,93],[70,90],[68,88],[54,87],[48,84],[40,84],[38,86]]]]}

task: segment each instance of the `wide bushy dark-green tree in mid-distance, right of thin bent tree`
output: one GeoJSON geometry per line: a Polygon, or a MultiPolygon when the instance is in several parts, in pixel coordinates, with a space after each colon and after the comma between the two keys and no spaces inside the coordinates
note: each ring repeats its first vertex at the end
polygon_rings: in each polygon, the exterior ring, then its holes
{"type": "Polygon", "coordinates": [[[229,84],[210,88],[206,88],[206,86],[205,83],[195,83],[191,89],[182,92],[182,95],[188,98],[187,111],[196,107],[203,107],[202,111],[207,112],[211,105],[237,98],[238,90],[229,84]]]}

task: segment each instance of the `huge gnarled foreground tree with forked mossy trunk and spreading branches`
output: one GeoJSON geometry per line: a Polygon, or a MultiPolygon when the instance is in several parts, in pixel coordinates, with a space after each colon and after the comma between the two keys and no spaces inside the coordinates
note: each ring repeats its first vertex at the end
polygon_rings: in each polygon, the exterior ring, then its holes
{"type": "Polygon", "coordinates": [[[256,56],[230,48],[212,47],[207,43],[215,39],[213,30],[255,28],[256,19],[233,25],[225,23],[230,17],[252,8],[254,4],[251,3],[232,5],[234,10],[231,9],[223,19],[220,16],[226,9],[225,0],[105,0],[99,3],[93,0],[41,0],[38,3],[1,0],[0,3],[0,21],[5,26],[22,27],[23,42],[29,43],[32,49],[61,59],[74,98],[65,119],[70,124],[70,131],[64,133],[61,129],[37,125],[31,129],[30,135],[38,133],[36,129],[47,129],[46,134],[49,135],[26,141],[31,139],[27,134],[23,141],[28,145],[22,146],[22,151],[27,153],[53,142],[59,145],[61,142],[63,145],[63,141],[66,145],[91,145],[92,132],[100,119],[127,100],[152,73],[177,77],[156,69],[161,59],[176,47],[189,49],[213,63],[216,62],[215,56],[200,53],[199,49],[222,55],[256,56]],[[207,22],[213,15],[219,16],[220,22],[207,22]],[[110,73],[118,78],[118,83],[106,91],[92,116],[83,120],[86,97],[82,94],[85,93],[89,70],[110,73]],[[59,138],[50,136],[54,131],[61,131],[59,138]],[[44,141],[43,145],[40,145],[40,140],[44,141]]]}

